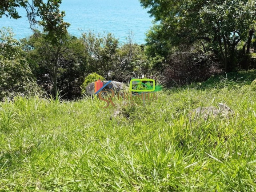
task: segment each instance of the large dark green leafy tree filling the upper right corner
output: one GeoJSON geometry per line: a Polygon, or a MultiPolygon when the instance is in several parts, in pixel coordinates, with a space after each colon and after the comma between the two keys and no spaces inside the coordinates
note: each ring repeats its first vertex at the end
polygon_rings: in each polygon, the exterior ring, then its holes
{"type": "Polygon", "coordinates": [[[204,51],[215,52],[223,61],[225,71],[229,72],[235,68],[237,45],[246,42],[247,52],[251,46],[256,24],[256,0],[140,2],[145,8],[150,8],[151,16],[159,21],[148,34],[148,44],[160,48],[162,53],[168,52],[170,45],[185,47],[200,41],[204,51]]]}

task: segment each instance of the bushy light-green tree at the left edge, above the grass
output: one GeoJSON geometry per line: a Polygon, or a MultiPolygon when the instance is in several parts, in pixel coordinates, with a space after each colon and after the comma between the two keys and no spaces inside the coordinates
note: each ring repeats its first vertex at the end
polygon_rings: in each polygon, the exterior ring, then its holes
{"type": "Polygon", "coordinates": [[[20,46],[10,29],[0,29],[0,99],[10,93],[41,93],[20,46]]]}

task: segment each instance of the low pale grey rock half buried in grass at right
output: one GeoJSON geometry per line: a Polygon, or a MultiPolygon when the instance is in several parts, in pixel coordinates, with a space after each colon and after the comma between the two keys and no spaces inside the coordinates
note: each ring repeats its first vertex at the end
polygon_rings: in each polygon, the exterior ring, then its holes
{"type": "Polygon", "coordinates": [[[219,103],[219,107],[199,107],[196,109],[193,109],[192,112],[188,114],[188,116],[197,118],[201,117],[204,120],[207,120],[208,117],[217,117],[222,116],[226,118],[230,118],[234,114],[233,110],[229,108],[227,105],[223,103],[219,103]]]}

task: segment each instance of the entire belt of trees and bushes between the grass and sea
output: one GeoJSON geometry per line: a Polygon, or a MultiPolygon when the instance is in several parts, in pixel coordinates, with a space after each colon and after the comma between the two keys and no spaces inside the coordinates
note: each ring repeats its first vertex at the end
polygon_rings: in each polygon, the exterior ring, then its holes
{"type": "MultiPolygon", "coordinates": [[[[156,22],[145,45],[133,43],[132,33],[126,44],[120,44],[111,33],[71,36],[67,32],[70,24],[63,19],[65,13],[59,10],[61,0],[1,2],[0,16],[18,19],[16,8],[25,8],[34,35],[18,42],[4,35],[6,30],[2,29],[0,54],[6,59],[7,54],[13,55],[12,49],[22,52],[15,54],[16,60],[24,60],[26,75],[32,73],[23,84],[36,82],[44,94],[59,93],[66,99],[81,96],[84,78],[92,72],[121,82],[154,74],[166,87],[173,87],[204,81],[223,71],[256,68],[255,0],[140,2],[156,22]],[[38,25],[42,31],[35,29],[38,25]]],[[[4,67],[1,73],[8,76],[4,67]]],[[[0,86],[8,89],[4,88],[1,97],[7,90],[26,90],[17,88],[20,82],[4,81],[0,86]]]]}

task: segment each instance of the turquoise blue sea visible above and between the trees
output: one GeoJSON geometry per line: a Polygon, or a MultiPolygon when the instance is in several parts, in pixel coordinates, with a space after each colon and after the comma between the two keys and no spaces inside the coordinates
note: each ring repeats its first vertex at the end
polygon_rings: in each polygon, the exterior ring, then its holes
{"type": "MultiPolygon", "coordinates": [[[[121,43],[126,42],[130,32],[133,32],[134,43],[145,43],[145,33],[153,20],[139,0],[62,0],[60,10],[66,13],[64,21],[71,24],[70,34],[79,37],[88,31],[111,32],[121,43]]],[[[22,8],[18,11],[22,16],[18,20],[0,18],[0,28],[11,27],[16,39],[32,35],[25,11],[22,8]]]]}

